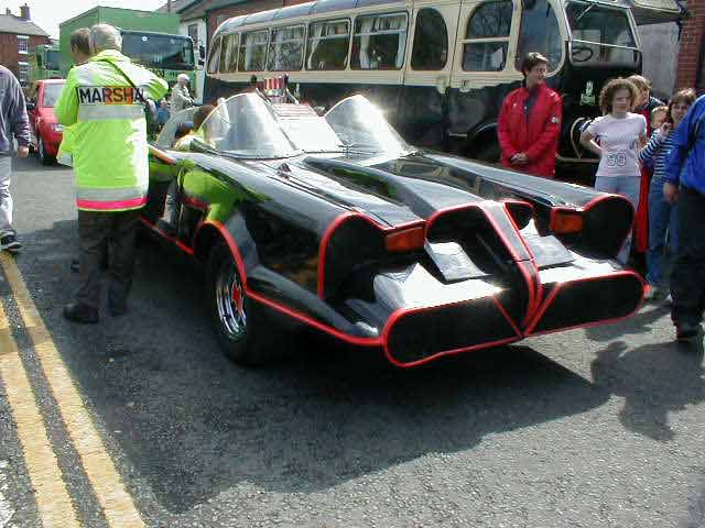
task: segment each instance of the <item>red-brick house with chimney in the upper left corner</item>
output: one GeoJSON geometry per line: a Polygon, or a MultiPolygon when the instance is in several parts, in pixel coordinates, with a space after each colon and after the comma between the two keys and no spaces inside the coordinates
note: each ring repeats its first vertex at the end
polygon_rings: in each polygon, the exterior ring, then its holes
{"type": "Polygon", "coordinates": [[[30,19],[29,6],[15,16],[7,9],[0,14],[0,64],[10,69],[22,86],[28,86],[29,56],[37,44],[51,44],[48,34],[30,19]]]}

